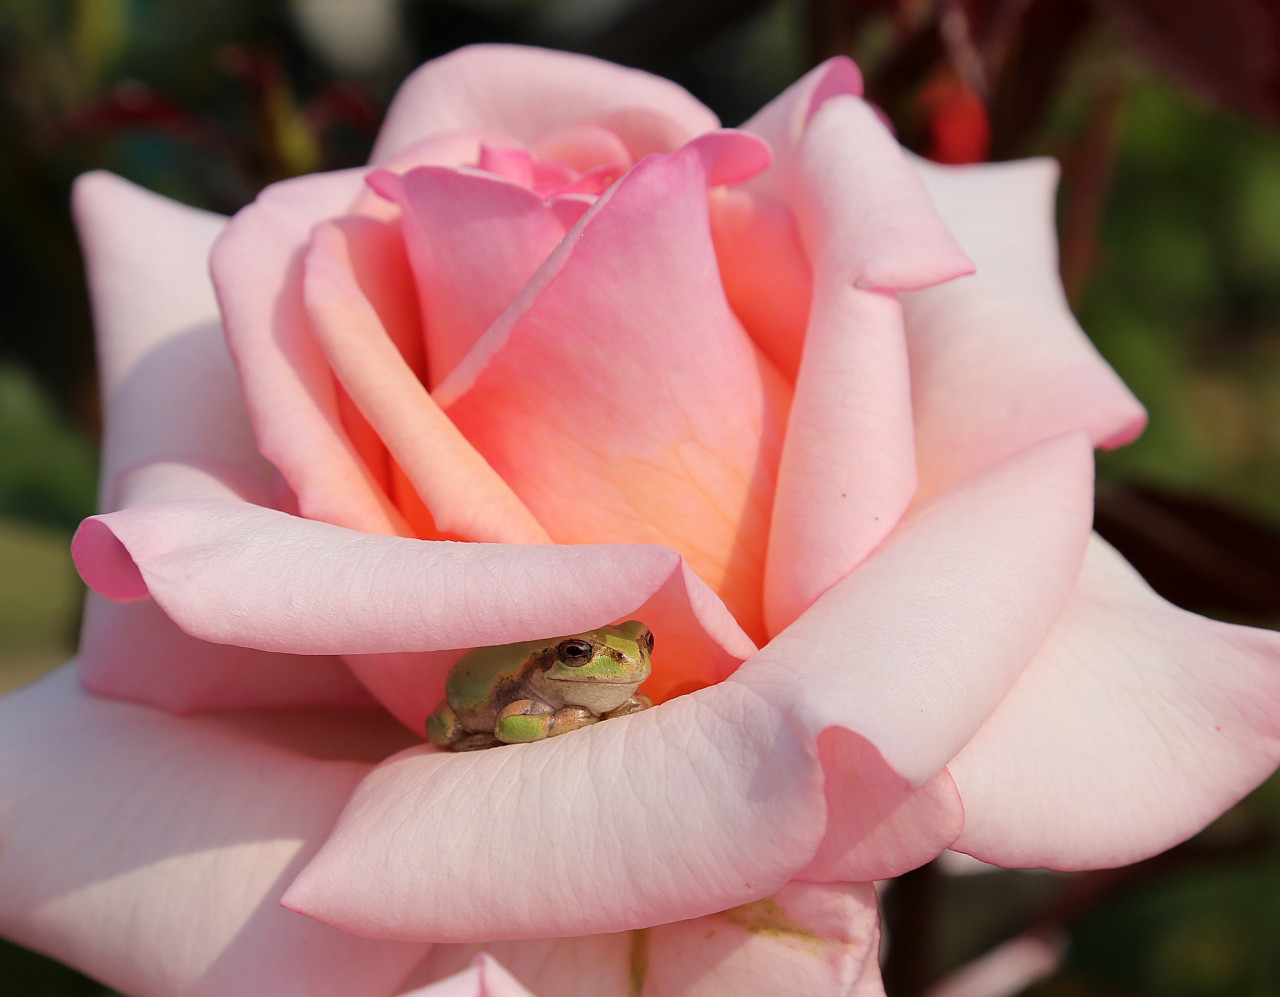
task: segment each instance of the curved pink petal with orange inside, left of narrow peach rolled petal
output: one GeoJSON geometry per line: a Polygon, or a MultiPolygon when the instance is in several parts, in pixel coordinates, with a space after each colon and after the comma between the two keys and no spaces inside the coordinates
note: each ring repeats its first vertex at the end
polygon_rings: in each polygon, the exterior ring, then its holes
{"type": "MultiPolygon", "coordinates": [[[[485,136],[434,136],[396,159],[398,169],[474,161],[485,136]]],[[[262,452],[282,470],[303,513],[374,532],[430,535],[434,523],[314,342],[303,307],[302,256],[315,224],[347,212],[396,221],[398,209],[364,183],[365,171],[276,184],[241,211],[214,248],[212,271],[232,351],[262,452]],[[425,522],[422,522],[425,520],[425,522]]],[[[425,376],[416,307],[383,287],[387,331],[425,376]]]]}

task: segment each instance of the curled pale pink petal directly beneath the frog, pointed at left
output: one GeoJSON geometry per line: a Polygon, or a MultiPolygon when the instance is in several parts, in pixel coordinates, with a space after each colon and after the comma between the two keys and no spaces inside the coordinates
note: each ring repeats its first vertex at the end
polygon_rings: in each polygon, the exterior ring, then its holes
{"type": "Polygon", "coordinates": [[[380,938],[645,928],[776,892],[824,824],[812,746],[721,682],[536,744],[397,755],[284,902],[380,938]]]}

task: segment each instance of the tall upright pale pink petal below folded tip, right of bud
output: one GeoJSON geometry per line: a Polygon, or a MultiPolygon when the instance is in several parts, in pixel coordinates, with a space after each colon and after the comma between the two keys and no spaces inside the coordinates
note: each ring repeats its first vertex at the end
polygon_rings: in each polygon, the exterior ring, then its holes
{"type": "Polygon", "coordinates": [[[891,294],[831,282],[820,267],[778,466],[769,634],[858,567],[915,494],[901,307],[891,294]]]}

